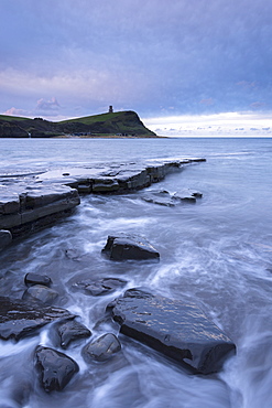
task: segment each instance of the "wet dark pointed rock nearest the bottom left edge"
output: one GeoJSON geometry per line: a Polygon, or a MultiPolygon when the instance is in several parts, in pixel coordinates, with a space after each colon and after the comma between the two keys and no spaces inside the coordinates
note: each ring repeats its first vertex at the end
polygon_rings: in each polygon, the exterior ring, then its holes
{"type": "Polygon", "coordinates": [[[79,371],[77,363],[54,348],[37,346],[35,351],[36,368],[45,391],[61,391],[79,371]]]}

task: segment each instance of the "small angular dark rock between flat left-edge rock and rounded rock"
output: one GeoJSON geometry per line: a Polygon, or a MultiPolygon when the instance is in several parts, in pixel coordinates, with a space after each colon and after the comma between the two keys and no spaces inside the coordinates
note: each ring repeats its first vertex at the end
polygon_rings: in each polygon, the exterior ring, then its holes
{"type": "Polygon", "coordinates": [[[77,322],[75,316],[67,318],[57,322],[54,329],[58,336],[58,344],[63,348],[67,348],[72,342],[80,339],[87,339],[91,335],[90,330],[88,330],[84,324],[77,322]]]}

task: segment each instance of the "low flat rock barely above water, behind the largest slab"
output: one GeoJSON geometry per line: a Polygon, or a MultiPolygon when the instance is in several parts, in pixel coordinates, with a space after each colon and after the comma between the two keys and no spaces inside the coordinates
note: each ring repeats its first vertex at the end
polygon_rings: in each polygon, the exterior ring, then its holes
{"type": "Polygon", "coordinates": [[[83,280],[73,284],[73,288],[80,289],[86,294],[100,296],[113,292],[118,288],[124,287],[126,280],[117,278],[104,278],[98,281],[83,280]]]}

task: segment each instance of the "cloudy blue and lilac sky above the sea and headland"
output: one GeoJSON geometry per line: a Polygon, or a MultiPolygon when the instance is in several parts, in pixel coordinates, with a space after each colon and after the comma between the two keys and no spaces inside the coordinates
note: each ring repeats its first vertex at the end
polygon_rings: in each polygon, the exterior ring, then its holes
{"type": "Polygon", "coordinates": [[[272,136],[271,0],[0,0],[0,114],[272,136]]]}

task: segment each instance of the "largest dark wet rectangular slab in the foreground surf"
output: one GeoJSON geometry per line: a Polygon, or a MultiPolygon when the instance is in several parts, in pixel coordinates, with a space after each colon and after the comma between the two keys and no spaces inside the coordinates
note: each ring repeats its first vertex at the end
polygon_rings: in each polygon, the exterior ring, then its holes
{"type": "Polygon", "coordinates": [[[174,358],[193,373],[218,372],[236,350],[196,304],[131,289],[109,307],[121,333],[174,358]]]}

